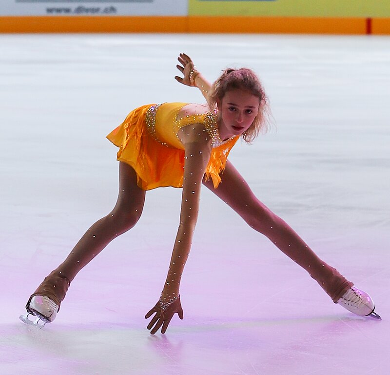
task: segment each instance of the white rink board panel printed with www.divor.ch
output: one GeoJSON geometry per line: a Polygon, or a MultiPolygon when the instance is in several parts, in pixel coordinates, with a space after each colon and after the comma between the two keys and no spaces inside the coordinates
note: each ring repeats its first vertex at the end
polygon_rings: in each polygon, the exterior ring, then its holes
{"type": "Polygon", "coordinates": [[[187,0],[1,0],[0,16],[186,16],[187,0]]]}

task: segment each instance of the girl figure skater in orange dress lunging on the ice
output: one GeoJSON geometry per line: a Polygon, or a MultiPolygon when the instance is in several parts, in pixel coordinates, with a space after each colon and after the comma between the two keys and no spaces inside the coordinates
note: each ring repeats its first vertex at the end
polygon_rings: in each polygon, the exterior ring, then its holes
{"type": "Polygon", "coordinates": [[[154,317],[151,333],[165,333],[175,313],[183,319],[179,286],[198,216],[200,187],[204,184],[233,208],[253,229],[309,272],[334,303],[357,315],[372,315],[370,296],[353,287],[337,270],[318,258],[309,246],[255,196],[227,160],[241,137],[254,140],[266,127],[267,98],[253,71],[225,69],[211,86],[180,54],[176,65],[180,83],[198,87],[208,104],[148,104],[133,110],[107,138],[119,147],[119,195],[114,209],[98,220],[78,241],[59,267],[30,296],[28,314],[33,324],[52,322],[70,283],[86,264],[138,221],[145,191],[156,187],[182,187],[180,223],[168,275],[156,305],[145,316],[154,317]]]}

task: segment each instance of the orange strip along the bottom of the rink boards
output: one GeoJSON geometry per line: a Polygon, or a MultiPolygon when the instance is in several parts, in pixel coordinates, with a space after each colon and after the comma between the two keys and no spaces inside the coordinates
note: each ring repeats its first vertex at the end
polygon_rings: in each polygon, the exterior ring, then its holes
{"type": "Polygon", "coordinates": [[[1,33],[390,34],[388,18],[213,16],[7,16],[1,33]]]}

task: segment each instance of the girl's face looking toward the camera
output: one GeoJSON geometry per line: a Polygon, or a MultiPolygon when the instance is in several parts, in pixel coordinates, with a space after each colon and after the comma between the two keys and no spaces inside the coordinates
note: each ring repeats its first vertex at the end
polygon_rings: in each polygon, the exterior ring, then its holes
{"type": "Polygon", "coordinates": [[[241,135],[257,116],[260,101],[251,92],[234,89],[226,91],[221,101],[217,101],[220,114],[219,136],[222,140],[241,135]]]}

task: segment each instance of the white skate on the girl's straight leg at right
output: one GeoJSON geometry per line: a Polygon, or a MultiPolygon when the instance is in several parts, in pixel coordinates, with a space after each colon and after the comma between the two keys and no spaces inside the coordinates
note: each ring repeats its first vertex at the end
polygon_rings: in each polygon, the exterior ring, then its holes
{"type": "Polygon", "coordinates": [[[366,292],[363,292],[355,287],[348,289],[337,303],[356,315],[370,315],[374,318],[382,319],[374,312],[375,304],[374,301],[372,301],[372,298],[366,292]]]}

